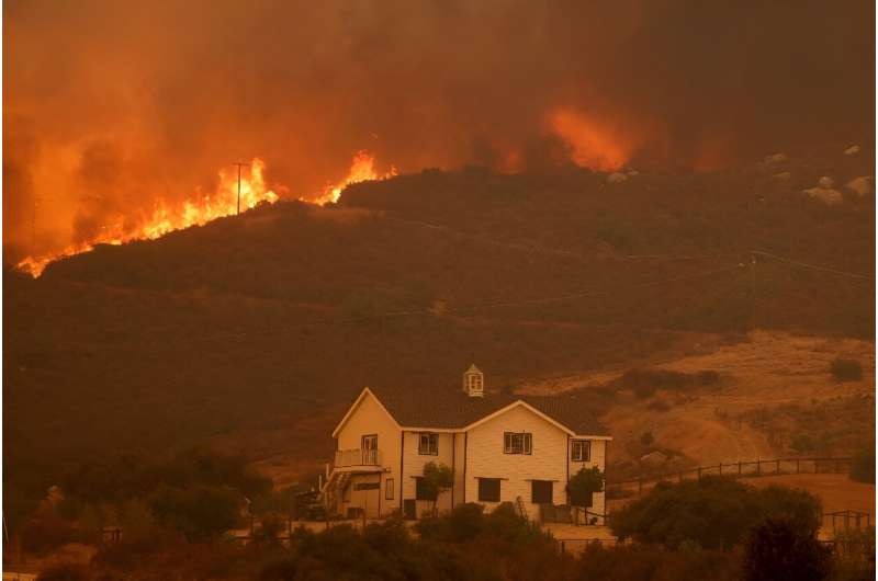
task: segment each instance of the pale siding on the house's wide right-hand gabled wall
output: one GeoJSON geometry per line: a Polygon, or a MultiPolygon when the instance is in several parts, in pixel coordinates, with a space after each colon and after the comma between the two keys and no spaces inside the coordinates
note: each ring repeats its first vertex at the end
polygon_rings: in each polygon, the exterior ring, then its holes
{"type": "MultiPolygon", "coordinates": [[[[503,478],[500,502],[515,503],[518,497],[531,519],[539,517],[539,505],[531,503],[531,481],[552,480],[554,504],[566,501],[567,434],[529,409],[517,406],[469,432],[466,451],[466,501],[479,501],[479,478],[503,478]],[[529,432],[531,454],[504,454],[504,432],[529,432]]],[[[488,509],[493,502],[483,503],[488,509]]]]}

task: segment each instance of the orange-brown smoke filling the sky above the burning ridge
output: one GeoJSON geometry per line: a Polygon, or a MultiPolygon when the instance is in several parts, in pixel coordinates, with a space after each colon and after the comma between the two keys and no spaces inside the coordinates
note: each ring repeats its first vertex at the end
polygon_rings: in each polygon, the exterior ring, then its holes
{"type": "Polygon", "coordinates": [[[10,0],[3,15],[4,242],[27,246],[37,195],[44,250],[257,156],[304,195],[359,149],[401,171],[614,163],[600,151],[680,171],[873,138],[862,1],[10,0]]]}

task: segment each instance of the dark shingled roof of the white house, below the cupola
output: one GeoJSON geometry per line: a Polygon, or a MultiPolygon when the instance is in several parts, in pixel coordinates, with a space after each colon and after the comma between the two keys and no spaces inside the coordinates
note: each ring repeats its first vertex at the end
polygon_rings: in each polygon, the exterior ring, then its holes
{"type": "Polygon", "coordinates": [[[524,401],[577,435],[609,436],[609,431],[585,409],[582,395],[518,396],[486,394],[470,397],[460,389],[369,388],[399,425],[463,429],[517,401],[524,401]]]}

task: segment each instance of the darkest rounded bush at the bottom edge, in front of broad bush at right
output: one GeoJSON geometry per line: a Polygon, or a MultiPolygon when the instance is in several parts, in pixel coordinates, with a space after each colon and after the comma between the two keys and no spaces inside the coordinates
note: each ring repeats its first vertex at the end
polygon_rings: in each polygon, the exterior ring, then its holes
{"type": "Polygon", "coordinates": [[[822,581],[830,573],[831,549],[793,520],[768,519],[750,534],[743,568],[747,581],[822,581]]]}

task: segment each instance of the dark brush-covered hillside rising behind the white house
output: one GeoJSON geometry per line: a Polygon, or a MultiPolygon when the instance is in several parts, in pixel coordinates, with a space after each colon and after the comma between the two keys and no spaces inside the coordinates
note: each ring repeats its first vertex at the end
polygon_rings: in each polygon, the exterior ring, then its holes
{"type": "Polygon", "coordinates": [[[367,384],[441,392],[475,361],[515,388],[754,326],[871,337],[870,280],[761,257],[754,285],[754,249],[874,274],[874,195],[802,193],[870,158],[810,156],[621,182],[428,170],[7,271],[7,475],[40,489],[87,456],[192,445],[305,471],[367,384]]]}

